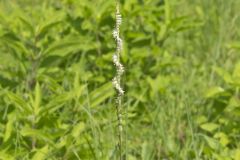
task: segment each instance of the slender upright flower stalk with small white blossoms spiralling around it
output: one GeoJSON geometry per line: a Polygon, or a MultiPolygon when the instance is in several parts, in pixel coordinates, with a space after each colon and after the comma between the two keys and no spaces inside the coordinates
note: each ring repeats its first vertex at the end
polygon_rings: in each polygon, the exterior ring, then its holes
{"type": "Polygon", "coordinates": [[[120,63],[120,55],[122,51],[122,39],[120,38],[120,25],[122,23],[122,17],[120,14],[120,2],[116,0],[116,24],[115,29],[113,30],[113,37],[116,41],[116,52],[113,55],[113,63],[116,66],[116,76],[113,78],[113,86],[117,91],[117,98],[116,98],[116,114],[118,120],[118,150],[119,150],[119,159],[122,160],[122,97],[124,95],[124,91],[121,87],[121,76],[124,72],[124,67],[120,63]]]}

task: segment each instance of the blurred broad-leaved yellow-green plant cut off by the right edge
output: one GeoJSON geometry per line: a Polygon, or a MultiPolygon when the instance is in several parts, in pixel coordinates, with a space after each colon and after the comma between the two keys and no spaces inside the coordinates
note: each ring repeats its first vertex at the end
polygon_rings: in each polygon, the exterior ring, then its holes
{"type": "Polygon", "coordinates": [[[215,68],[215,71],[223,79],[224,85],[208,90],[206,98],[211,112],[209,118],[204,117],[201,128],[210,133],[210,137],[205,138],[214,158],[238,159],[235,157],[239,154],[240,65],[237,63],[232,73],[222,68],[215,68]]]}

